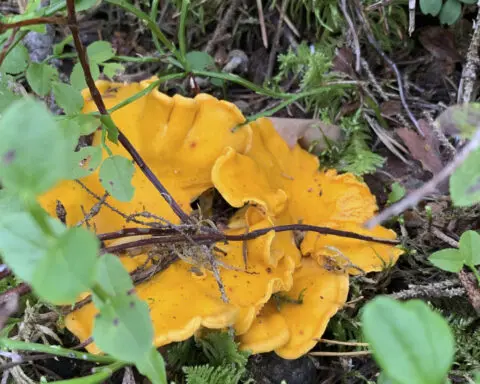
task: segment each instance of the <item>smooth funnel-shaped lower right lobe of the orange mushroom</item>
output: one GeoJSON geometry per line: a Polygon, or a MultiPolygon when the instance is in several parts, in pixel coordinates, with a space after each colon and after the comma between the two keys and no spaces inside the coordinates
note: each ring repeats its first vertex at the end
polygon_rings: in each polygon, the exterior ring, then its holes
{"type": "Polygon", "coordinates": [[[304,258],[293,275],[292,288],[283,294],[288,299],[279,303],[270,300],[250,330],[240,336],[241,349],[253,353],[274,350],[284,359],[307,353],[345,304],[348,275],[327,271],[314,259],[304,258]]]}

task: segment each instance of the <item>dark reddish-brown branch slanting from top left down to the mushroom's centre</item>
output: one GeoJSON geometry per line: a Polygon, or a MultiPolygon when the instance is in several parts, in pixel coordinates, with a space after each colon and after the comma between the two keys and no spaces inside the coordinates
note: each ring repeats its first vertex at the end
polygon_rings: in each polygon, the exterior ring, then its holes
{"type": "MultiPolygon", "coordinates": [[[[75,0],[67,0],[67,11],[68,11],[68,26],[70,31],[72,32],[73,42],[75,45],[75,49],[77,50],[78,59],[80,64],[83,68],[83,72],[85,74],[85,81],[87,83],[88,89],[90,90],[90,94],[92,100],[95,102],[98,111],[101,115],[108,116],[108,111],[103,102],[102,96],[100,91],[98,90],[95,81],[93,80],[92,73],[90,72],[90,66],[88,64],[87,53],[85,48],[80,40],[80,33],[78,28],[77,16],[75,14],[75,0]]],[[[118,127],[117,127],[118,129],[118,127]]],[[[138,151],[132,145],[132,143],[128,140],[128,138],[122,133],[120,129],[118,129],[118,141],[123,145],[123,147],[127,150],[127,152],[132,156],[133,161],[138,165],[140,170],[145,174],[148,180],[155,186],[155,188],[160,192],[162,197],[166,200],[166,202],[170,205],[170,208],[175,212],[175,214],[183,221],[189,222],[190,217],[183,211],[180,205],[175,201],[173,196],[167,191],[167,189],[163,186],[160,180],[155,176],[152,172],[150,167],[145,163],[143,158],[140,156],[138,151]]]]}

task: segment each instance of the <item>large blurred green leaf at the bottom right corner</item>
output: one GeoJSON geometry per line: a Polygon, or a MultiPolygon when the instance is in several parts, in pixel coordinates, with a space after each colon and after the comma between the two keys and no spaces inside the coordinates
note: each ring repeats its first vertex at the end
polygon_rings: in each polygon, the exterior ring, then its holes
{"type": "Polygon", "coordinates": [[[386,375],[399,384],[441,384],[453,362],[448,323],[424,302],[377,297],[362,313],[363,332],[386,375]]]}

